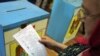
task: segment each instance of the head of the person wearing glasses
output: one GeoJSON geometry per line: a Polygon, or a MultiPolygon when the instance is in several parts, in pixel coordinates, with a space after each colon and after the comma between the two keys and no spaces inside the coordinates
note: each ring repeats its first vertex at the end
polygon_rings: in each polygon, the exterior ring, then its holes
{"type": "Polygon", "coordinates": [[[100,20],[100,1],[83,0],[84,24],[86,37],[94,31],[97,22],[100,20]]]}

